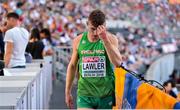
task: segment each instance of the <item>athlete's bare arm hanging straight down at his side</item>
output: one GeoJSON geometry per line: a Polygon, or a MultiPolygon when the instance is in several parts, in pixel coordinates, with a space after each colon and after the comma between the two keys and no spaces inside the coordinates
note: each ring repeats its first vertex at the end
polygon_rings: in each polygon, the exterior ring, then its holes
{"type": "Polygon", "coordinates": [[[76,72],[76,67],[77,67],[77,62],[78,62],[78,46],[79,42],[81,40],[82,35],[79,35],[73,40],[73,51],[72,51],[72,56],[70,63],[67,68],[67,74],[66,74],[66,88],[65,88],[65,101],[66,104],[69,108],[72,108],[73,106],[73,100],[72,100],[72,95],[71,95],[71,88],[72,88],[72,83],[75,77],[75,72],[76,72]]]}

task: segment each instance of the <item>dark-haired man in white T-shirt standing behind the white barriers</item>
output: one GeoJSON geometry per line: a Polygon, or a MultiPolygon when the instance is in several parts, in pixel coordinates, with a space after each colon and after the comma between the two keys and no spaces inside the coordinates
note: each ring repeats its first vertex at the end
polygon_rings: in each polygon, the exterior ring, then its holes
{"type": "Polygon", "coordinates": [[[11,12],[7,14],[7,31],[5,33],[4,62],[7,68],[25,68],[25,49],[29,40],[29,32],[19,27],[19,15],[11,12]]]}

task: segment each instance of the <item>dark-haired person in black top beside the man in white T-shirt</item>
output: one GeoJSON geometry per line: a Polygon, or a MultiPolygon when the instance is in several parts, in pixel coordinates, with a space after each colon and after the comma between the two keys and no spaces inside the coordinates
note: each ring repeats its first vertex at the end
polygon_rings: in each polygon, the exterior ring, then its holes
{"type": "Polygon", "coordinates": [[[40,32],[37,28],[31,30],[30,40],[26,52],[30,53],[33,59],[43,59],[44,44],[40,40],[40,32]]]}

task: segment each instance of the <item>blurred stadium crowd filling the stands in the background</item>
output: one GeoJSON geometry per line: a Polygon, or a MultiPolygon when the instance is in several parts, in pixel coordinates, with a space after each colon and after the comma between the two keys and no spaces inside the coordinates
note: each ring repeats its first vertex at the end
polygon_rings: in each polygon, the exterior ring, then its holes
{"type": "Polygon", "coordinates": [[[2,0],[0,21],[4,25],[7,12],[15,11],[31,33],[27,51],[38,40],[43,55],[51,55],[53,46],[71,46],[97,8],[106,14],[108,30],[117,35],[123,65],[130,70],[143,74],[162,54],[180,49],[179,0],[2,0]],[[112,27],[110,21],[130,25],[112,27]]]}

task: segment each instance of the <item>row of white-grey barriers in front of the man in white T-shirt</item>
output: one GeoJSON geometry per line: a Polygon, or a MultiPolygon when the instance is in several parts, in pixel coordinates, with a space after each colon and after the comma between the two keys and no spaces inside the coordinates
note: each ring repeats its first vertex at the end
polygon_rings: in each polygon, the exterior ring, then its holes
{"type": "Polygon", "coordinates": [[[47,109],[51,94],[52,57],[0,76],[0,109],[47,109]]]}

